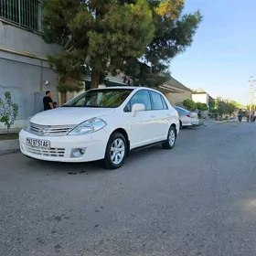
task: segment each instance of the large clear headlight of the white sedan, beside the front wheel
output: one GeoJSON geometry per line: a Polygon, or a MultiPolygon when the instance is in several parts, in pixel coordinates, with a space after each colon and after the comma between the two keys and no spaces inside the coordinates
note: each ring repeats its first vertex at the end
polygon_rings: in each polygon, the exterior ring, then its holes
{"type": "Polygon", "coordinates": [[[107,125],[100,118],[92,118],[83,123],[80,123],[76,126],[72,131],[68,133],[68,135],[81,135],[85,133],[95,133],[107,125]]]}

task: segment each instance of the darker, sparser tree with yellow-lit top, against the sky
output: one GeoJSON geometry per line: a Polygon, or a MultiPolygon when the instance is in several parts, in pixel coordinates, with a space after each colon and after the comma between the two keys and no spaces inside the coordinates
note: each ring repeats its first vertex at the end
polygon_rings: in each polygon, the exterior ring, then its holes
{"type": "Polygon", "coordinates": [[[140,58],[127,61],[125,75],[133,84],[157,86],[167,80],[170,61],[191,46],[202,16],[199,11],[183,15],[185,0],[149,0],[155,24],[152,42],[140,58]],[[130,68],[130,69],[129,69],[130,68]]]}

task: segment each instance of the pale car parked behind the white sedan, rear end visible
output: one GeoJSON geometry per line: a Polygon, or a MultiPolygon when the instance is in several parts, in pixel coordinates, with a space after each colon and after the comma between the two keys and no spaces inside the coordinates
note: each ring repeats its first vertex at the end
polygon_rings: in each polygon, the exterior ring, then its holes
{"type": "Polygon", "coordinates": [[[197,112],[189,112],[184,108],[174,106],[179,115],[179,125],[182,128],[199,124],[197,112]]]}

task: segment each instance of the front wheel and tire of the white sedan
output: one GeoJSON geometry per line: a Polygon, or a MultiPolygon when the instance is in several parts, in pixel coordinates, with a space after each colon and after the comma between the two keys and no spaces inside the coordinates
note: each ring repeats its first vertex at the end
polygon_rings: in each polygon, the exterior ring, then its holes
{"type": "Polygon", "coordinates": [[[112,133],[106,147],[104,165],[107,169],[118,169],[127,155],[127,142],[122,133],[112,133]],[[120,151],[123,149],[122,151],[120,151]]]}

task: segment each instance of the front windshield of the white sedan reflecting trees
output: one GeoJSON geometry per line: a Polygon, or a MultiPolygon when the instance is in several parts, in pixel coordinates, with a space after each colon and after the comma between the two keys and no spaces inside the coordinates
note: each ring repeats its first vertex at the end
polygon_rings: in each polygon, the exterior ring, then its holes
{"type": "Polygon", "coordinates": [[[133,89],[97,89],[86,91],[68,101],[63,107],[117,108],[133,89]]]}

